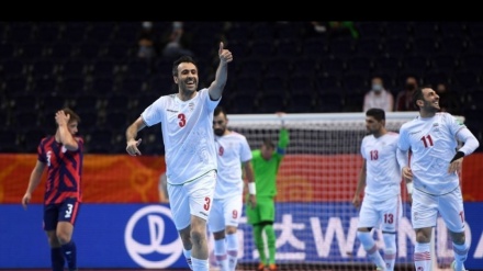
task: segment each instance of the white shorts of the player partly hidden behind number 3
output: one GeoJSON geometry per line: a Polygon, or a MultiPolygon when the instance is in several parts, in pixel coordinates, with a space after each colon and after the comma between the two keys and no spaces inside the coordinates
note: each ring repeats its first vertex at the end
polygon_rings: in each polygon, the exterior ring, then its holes
{"type": "Polygon", "coordinates": [[[210,218],[207,221],[209,230],[211,233],[217,233],[225,229],[226,226],[238,227],[242,207],[242,194],[214,200],[213,208],[210,212],[210,218]]]}

